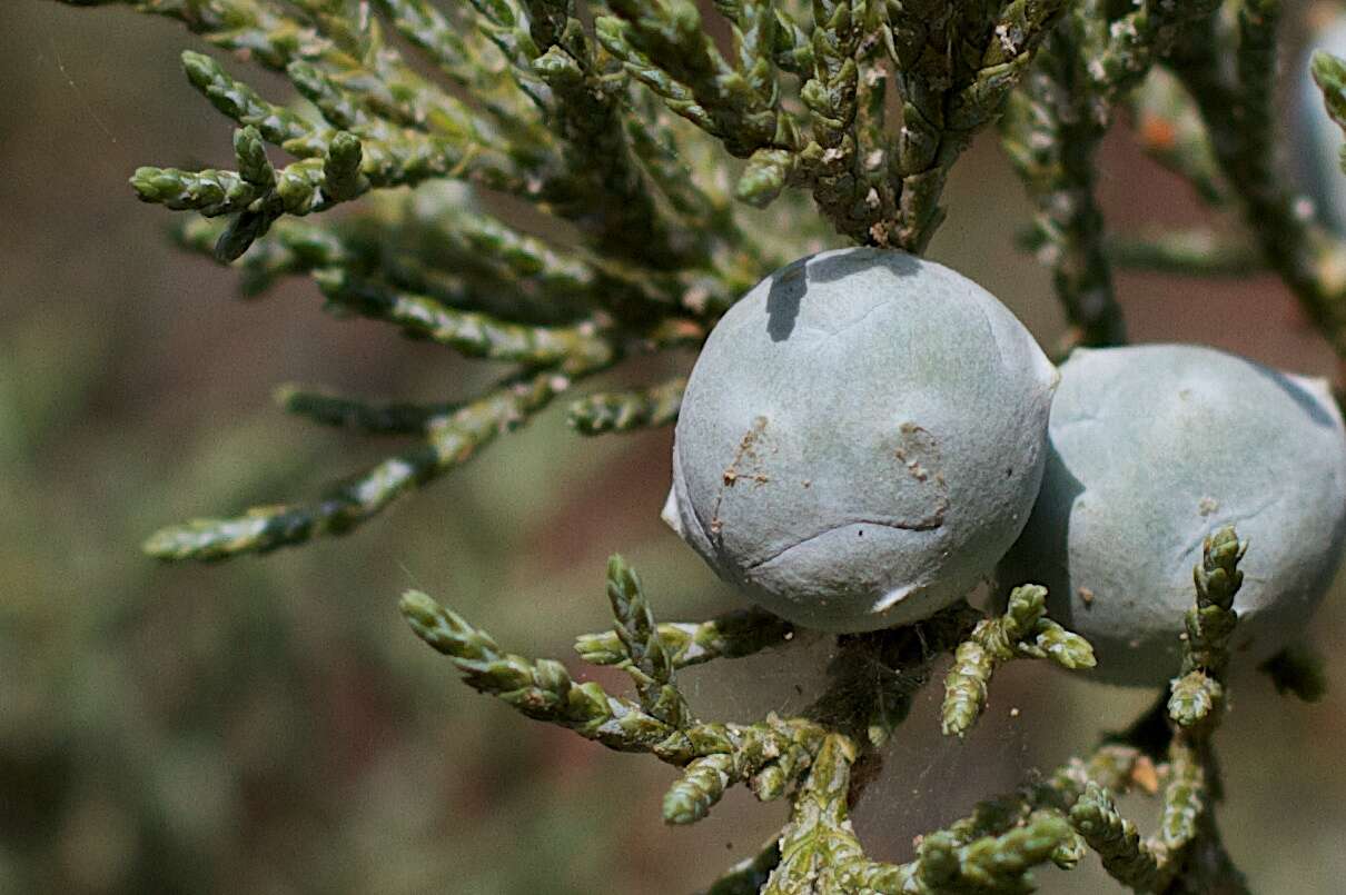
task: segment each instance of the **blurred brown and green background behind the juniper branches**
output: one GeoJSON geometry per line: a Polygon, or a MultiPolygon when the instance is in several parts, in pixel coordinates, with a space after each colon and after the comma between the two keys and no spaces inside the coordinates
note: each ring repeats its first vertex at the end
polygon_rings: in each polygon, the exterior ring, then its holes
{"type": "MultiPolygon", "coordinates": [[[[611,552],[641,571],[661,618],[735,606],[658,521],[668,431],[580,440],[557,406],[346,538],[214,567],[140,554],[160,525],[311,497],[386,450],[285,417],[271,401],[281,382],[436,400],[485,375],[323,315],[308,281],[238,300],[234,276],[174,249],[170,215],[125,182],[137,164],[229,163],[230,124],[179,67],[190,35],[124,9],[4,5],[0,892],[685,892],[755,852],[783,805],[736,790],[708,821],[666,829],[670,768],[472,693],[396,611],[421,587],[507,649],[579,674],[572,637],[608,624],[611,552]]],[[[1205,214],[1121,128],[1101,195],[1119,229],[1205,214]]],[[[993,135],[946,202],[931,256],[1053,342],[1062,320],[1043,271],[1014,248],[1028,209],[993,135]]],[[[1135,341],[1335,373],[1271,277],[1120,275],[1117,288],[1135,341]]],[[[1330,657],[1343,596],[1314,634],[1330,657]]],[[[825,659],[825,643],[802,645],[685,680],[703,716],[748,720],[801,705],[825,659]]],[[[1346,879],[1339,654],[1329,672],[1314,707],[1236,676],[1219,817],[1256,891],[1339,892],[1346,879]]],[[[1148,699],[1018,664],[953,744],[930,692],[860,806],[860,836],[906,860],[914,834],[1086,748],[1148,699]]],[[[1117,891],[1094,857],[1042,879],[1117,891]]]]}

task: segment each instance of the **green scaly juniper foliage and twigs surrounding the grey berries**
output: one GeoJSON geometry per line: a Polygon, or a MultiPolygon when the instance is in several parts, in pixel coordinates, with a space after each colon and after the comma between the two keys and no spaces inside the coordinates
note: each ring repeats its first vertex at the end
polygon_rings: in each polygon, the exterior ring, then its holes
{"type": "MultiPolygon", "coordinates": [[[[195,213],[178,227],[186,249],[237,266],[249,296],[307,276],[332,314],[507,369],[478,396],[424,405],[283,390],[291,413],[406,445],[312,501],[164,529],[145,548],[166,560],[343,534],[557,398],[583,435],[670,424],[682,378],[569,396],[641,355],[699,346],[739,295],[816,240],[817,223],[839,242],[922,252],[952,166],[996,122],[1036,207],[1023,240],[1053,272],[1071,324],[1065,347],[1124,341],[1113,264],[1269,268],[1346,357],[1346,242],[1302,213],[1273,163],[1277,0],[61,1],[132,7],[227,51],[184,52],[183,69],[236,125],[229,167],[144,167],[131,179],[141,201],[195,213]],[[256,90],[249,62],[284,75],[295,96],[256,90]],[[1109,234],[1094,180],[1119,118],[1206,202],[1237,214],[1242,233],[1109,234]],[[491,210],[499,196],[532,217],[491,210]],[[744,227],[744,203],[778,209],[786,236],[744,227]]],[[[1346,127],[1346,62],[1320,55],[1314,74],[1346,127]]],[[[616,557],[614,627],[577,650],[626,670],[633,697],[507,653],[424,594],[401,608],[470,686],[678,768],[670,824],[705,817],[739,783],[787,798],[779,837],[711,892],[1022,892],[1034,867],[1073,867],[1086,849],[1136,891],[1238,892],[1213,814],[1211,736],[1246,549],[1229,529],[1207,541],[1183,672],[1147,717],[930,832],[900,865],[864,855],[849,812],[934,662],[954,657],[944,728],[958,736],[996,665],[1093,664],[1082,638],[1044,616],[1042,588],[1016,589],[999,618],[958,604],[839,638],[814,705],[748,723],[699,720],[677,670],[785,647],[793,627],[759,610],[658,623],[616,557]],[[1147,762],[1158,763],[1162,822],[1144,837],[1114,797],[1147,762]]],[[[1299,650],[1267,670],[1283,690],[1320,693],[1299,650]]]]}

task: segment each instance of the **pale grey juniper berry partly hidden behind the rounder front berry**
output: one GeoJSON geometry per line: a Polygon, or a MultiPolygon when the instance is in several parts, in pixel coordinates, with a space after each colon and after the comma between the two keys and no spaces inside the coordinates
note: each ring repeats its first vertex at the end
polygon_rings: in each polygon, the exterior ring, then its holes
{"type": "Polygon", "coordinates": [[[1338,565],[1346,437],[1322,380],[1213,349],[1077,350],[1061,367],[1042,493],[1000,583],[1047,587],[1094,646],[1089,674],[1159,686],[1179,670],[1202,541],[1250,542],[1236,662],[1291,641],[1338,565]]]}

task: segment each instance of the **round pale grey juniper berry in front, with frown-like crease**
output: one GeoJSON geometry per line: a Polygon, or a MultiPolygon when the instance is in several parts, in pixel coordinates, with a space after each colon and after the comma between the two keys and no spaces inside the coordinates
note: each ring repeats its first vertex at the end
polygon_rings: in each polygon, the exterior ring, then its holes
{"type": "Polygon", "coordinates": [[[707,341],[665,518],[798,624],[926,618],[1027,521],[1055,382],[1023,324],[954,271],[870,248],[801,258],[707,341]]]}

